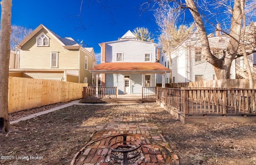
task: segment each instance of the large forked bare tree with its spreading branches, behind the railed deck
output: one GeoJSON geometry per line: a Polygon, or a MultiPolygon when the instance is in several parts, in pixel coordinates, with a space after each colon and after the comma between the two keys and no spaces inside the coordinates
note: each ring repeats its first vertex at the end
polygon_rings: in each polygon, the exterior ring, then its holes
{"type": "MultiPolygon", "coordinates": [[[[202,44],[202,55],[205,61],[213,65],[217,79],[230,79],[230,68],[232,61],[238,57],[247,56],[256,52],[256,49],[242,48],[242,29],[246,26],[246,19],[243,15],[249,16],[249,13],[254,13],[251,16],[255,19],[255,0],[163,0],[155,1],[161,3],[159,6],[165,5],[164,3],[174,3],[178,6],[175,10],[188,9],[195,22],[196,28],[200,33],[199,38],[202,44]],[[247,9],[251,10],[247,10],[247,9]],[[248,12],[247,12],[248,11],[248,12]],[[247,12],[247,13],[246,13],[247,12]],[[216,25],[220,23],[220,28],[216,25]],[[245,24],[244,24],[245,23],[245,24]],[[210,31],[207,29],[215,28],[215,30],[222,31],[229,36],[227,48],[224,50],[223,56],[217,58],[211,52],[207,34],[210,31]]],[[[155,4],[154,4],[155,5],[155,4]]],[[[185,17],[186,18],[186,17],[185,17]]],[[[184,20],[183,20],[184,21],[184,20]]],[[[213,29],[211,29],[213,30],[213,29]]]]}

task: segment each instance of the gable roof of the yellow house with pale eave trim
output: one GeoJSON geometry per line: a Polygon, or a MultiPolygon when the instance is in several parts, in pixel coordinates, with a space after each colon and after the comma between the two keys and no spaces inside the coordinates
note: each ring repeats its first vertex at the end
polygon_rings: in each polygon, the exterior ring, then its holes
{"type": "Polygon", "coordinates": [[[52,34],[52,36],[59,41],[59,43],[62,46],[76,46],[76,47],[80,47],[80,45],[78,43],[76,43],[76,41],[74,41],[74,39],[72,39],[71,37],[65,37],[65,38],[61,38],[59,35],[57,35],[56,33],[54,33],[53,31],[51,31],[50,29],[46,28],[44,25],[40,24],[36,29],[34,29],[27,37],[25,37],[16,47],[22,47],[28,40],[30,40],[34,35],[36,35],[36,33],[38,33],[38,31],[40,31],[41,29],[46,29],[46,31],[48,31],[48,33],[52,34]]]}

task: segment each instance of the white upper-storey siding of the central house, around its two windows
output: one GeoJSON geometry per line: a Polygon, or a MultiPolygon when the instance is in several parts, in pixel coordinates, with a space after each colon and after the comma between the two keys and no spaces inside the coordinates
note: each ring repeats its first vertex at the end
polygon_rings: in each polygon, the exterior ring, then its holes
{"type": "Polygon", "coordinates": [[[145,62],[145,53],[150,53],[150,62],[155,62],[156,56],[153,43],[135,40],[106,43],[106,63],[116,62],[116,53],[123,53],[122,62],[145,62]]]}

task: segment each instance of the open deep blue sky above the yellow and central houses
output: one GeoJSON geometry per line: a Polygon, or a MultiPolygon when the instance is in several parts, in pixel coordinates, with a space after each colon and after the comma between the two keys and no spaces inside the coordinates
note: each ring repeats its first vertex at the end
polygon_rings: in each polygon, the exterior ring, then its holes
{"type": "Polygon", "coordinates": [[[34,30],[43,24],[60,37],[83,40],[94,48],[98,62],[98,43],[117,40],[136,27],[148,28],[157,42],[158,26],[153,12],[140,10],[147,0],[99,1],[102,4],[97,0],[83,0],[80,14],[81,0],[12,0],[12,25],[34,30]]]}

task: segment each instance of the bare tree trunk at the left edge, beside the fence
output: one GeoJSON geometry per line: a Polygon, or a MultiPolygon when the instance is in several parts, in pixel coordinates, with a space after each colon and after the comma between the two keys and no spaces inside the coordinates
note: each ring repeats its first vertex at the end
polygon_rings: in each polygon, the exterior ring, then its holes
{"type": "Polygon", "coordinates": [[[2,0],[2,16],[0,31],[0,132],[12,132],[16,129],[10,125],[8,117],[8,77],[10,59],[10,35],[12,0],[2,0]]]}

